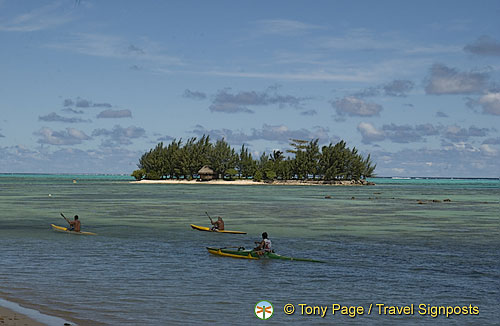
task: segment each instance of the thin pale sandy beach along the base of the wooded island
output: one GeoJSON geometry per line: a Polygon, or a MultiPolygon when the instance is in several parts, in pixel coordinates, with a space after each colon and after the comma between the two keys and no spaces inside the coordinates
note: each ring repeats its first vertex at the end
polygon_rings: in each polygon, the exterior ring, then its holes
{"type": "Polygon", "coordinates": [[[284,186],[365,186],[374,185],[373,182],[365,180],[349,180],[349,181],[302,181],[302,180],[286,180],[286,181],[252,181],[252,180],[140,180],[130,181],[136,184],[196,184],[196,185],[238,185],[238,186],[255,186],[255,185],[284,185],[284,186]]]}

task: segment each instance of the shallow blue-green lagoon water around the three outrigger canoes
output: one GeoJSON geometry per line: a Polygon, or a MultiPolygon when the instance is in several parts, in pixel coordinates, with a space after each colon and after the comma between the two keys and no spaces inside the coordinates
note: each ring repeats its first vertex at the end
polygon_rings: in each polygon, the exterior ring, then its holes
{"type": "Polygon", "coordinates": [[[129,181],[0,175],[0,297],[80,325],[498,325],[498,180],[129,181]],[[192,230],[191,223],[208,226],[205,211],[248,234],[192,230]],[[98,235],[52,231],[51,223],[66,223],[61,212],[78,214],[98,235]],[[325,263],[239,260],[205,248],[251,248],[264,231],[276,252],[325,263]],[[274,307],[266,321],[254,313],[261,300],[274,307]],[[284,313],[286,304],[294,314],[284,313]],[[327,306],[327,314],[302,314],[299,304],[327,306]],[[364,313],[333,315],[332,304],[364,313]],[[413,304],[414,314],[379,314],[376,304],[413,304]],[[472,305],[479,314],[420,315],[419,304],[472,305]]]}

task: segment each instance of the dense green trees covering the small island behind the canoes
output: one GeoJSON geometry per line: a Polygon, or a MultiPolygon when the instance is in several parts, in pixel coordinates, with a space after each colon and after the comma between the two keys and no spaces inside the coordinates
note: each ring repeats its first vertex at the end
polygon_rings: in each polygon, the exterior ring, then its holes
{"type": "Polygon", "coordinates": [[[262,180],[361,180],[374,176],[376,165],[370,155],[364,158],[356,147],[350,149],[345,141],[320,148],[318,140],[291,139],[290,155],[275,150],[254,159],[245,145],[237,153],[224,140],[210,142],[210,136],[189,138],[186,143],[174,139],[164,146],[144,153],[138,170],[132,173],[137,180],[186,179],[198,177],[203,166],[209,166],[216,178],[262,180]]]}

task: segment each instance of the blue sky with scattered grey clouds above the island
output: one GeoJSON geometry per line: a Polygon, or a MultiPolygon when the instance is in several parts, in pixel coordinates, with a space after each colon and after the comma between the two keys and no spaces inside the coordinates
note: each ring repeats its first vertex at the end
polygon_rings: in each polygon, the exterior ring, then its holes
{"type": "Polygon", "coordinates": [[[500,176],[499,1],[0,0],[0,173],[129,174],[210,135],[500,176]]]}

